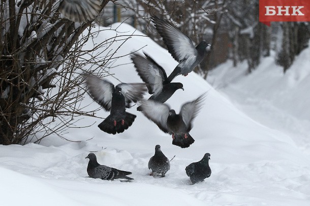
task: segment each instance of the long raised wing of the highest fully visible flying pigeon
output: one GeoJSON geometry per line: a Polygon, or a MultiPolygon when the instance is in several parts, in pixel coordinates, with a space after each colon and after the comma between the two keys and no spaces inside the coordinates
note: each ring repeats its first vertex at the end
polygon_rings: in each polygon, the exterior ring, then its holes
{"type": "Polygon", "coordinates": [[[184,59],[198,55],[189,36],[183,34],[167,20],[162,20],[156,16],[151,18],[157,31],[162,36],[169,53],[176,61],[181,62],[184,59]]]}

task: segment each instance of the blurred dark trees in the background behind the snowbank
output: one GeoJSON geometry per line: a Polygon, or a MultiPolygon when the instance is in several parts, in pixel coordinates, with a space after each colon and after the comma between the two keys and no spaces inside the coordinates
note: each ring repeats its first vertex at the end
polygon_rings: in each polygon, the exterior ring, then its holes
{"type": "Polygon", "coordinates": [[[268,27],[259,22],[259,0],[118,0],[109,3],[117,18],[108,10],[106,23],[125,21],[165,47],[150,23],[150,15],[168,19],[195,44],[205,39],[211,51],[195,71],[206,78],[210,69],[232,60],[234,66],[246,61],[253,71],[262,57],[275,52],[276,62],[284,72],[294,57],[308,47],[308,22],[272,22],[268,27]],[[113,4],[114,3],[114,4],[113,4]],[[113,10],[113,8],[115,10],[113,10]]]}

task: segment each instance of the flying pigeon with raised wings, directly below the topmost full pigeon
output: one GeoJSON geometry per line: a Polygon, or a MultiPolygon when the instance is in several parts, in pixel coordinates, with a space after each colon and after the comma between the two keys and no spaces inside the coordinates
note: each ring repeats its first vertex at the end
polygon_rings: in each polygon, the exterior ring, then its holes
{"type": "MultiPolygon", "coordinates": [[[[168,83],[166,71],[158,65],[151,57],[145,58],[139,54],[132,54],[131,59],[141,79],[147,83],[148,93],[152,94],[149,98],[161,103],[166,102],[176,90],[183,89],[181,83],[168,83]]],[[[141,107],[137,108],[141,111],[141,107]]]]}

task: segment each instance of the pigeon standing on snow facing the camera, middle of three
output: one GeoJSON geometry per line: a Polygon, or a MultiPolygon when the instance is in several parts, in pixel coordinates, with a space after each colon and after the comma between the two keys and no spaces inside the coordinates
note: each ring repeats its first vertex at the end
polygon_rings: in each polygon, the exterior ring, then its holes
{"type": "Polygon", "coordinates": [[[170,170],[170,161],[162,152],[160,145],[155,146],[155,154],[148,161],[148,169],[152,170],[150,175],[153,177],[157,173],[165,177],[170,170]]]}

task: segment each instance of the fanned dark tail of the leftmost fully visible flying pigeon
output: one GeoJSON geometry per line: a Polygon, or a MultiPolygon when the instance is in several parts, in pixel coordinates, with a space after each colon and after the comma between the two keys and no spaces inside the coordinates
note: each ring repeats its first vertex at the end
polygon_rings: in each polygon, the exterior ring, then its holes
{"type": "Polygon", "coordinates": [[[98,127],[100,130],[115,135],[116,133],[122,133],[127,130],[135,121],[137,116],[126,112],[125,119],[116,121],[116,126],[114,126],[114,119],[112,119],[111,115],[107,116],[107,118],[101,122],[98,127]]]}

